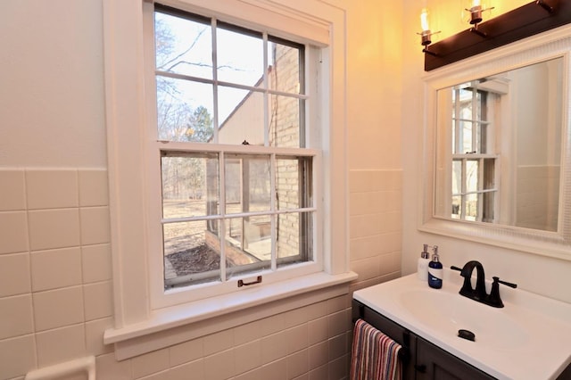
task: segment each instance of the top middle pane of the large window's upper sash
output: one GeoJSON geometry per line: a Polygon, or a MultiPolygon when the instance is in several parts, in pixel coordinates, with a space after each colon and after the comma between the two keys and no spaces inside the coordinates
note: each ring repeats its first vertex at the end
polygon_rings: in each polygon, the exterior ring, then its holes
{"type": "Polygon", "coordinates": [[[217,29],[218,79],[255,87],[263,78],[263,40],[252,32],[217,29]]]}

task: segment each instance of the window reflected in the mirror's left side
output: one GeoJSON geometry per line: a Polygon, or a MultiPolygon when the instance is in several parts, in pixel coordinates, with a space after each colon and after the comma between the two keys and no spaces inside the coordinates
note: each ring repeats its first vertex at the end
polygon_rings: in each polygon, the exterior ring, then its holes
{"type": "Polygon", "coordinates": [[[451,218],[492,222],[498,194],[494,108],[478,81],[452,88],[451,218]]]}

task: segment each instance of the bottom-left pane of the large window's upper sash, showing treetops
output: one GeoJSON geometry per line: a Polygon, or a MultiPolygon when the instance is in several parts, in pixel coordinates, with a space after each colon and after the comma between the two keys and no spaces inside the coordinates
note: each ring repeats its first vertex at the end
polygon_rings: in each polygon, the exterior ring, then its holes
{"type": "Polygon", "coordinates": [[[213,133],[212,86],[156,78],[159,140],[208,142],[213,133]]]}

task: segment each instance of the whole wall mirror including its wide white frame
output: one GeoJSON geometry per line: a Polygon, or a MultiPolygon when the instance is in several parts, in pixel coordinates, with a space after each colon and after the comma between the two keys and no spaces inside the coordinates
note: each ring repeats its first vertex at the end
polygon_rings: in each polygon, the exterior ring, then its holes
{"type": "Polygon", "coordinates": [[[426,75],[418,229],[571,260],[571,27],[426,75]]]}

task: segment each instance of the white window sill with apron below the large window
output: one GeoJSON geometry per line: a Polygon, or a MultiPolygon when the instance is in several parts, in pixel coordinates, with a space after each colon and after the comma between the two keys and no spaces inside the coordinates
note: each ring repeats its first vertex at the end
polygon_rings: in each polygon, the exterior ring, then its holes
{"type": "Polygon", "coordinates": [[[153,310],[145,321],[105,331],[103,343],[115,344],[117,359],[132,358],[346,294],[347,284],[356,278],[354,272],[319,273],[153,310]]]}

